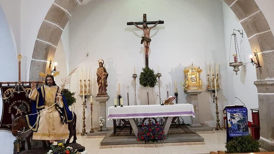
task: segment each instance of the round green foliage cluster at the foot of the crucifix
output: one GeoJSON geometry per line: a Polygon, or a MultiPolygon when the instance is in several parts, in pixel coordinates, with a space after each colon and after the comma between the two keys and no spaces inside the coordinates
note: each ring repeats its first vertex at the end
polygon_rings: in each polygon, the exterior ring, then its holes
{"type": "Polygon", "coordinates": [[[143,68],[140,73],[139,83],[143,87],[153,88],[157,84],[157,75],[154,74],[154,70],[149,67],[143,68]]]}

